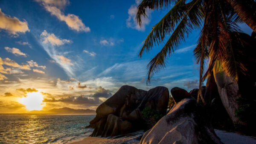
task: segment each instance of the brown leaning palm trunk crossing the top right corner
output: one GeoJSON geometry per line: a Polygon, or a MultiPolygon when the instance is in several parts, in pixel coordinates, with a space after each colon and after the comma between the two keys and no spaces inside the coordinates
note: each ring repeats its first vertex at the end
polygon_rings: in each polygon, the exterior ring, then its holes
{"type": "Polygon", "coordinates": [[[254,16],[255,9],[250,9],[245,3],[246,0],[227,0],[233,7],[241,20],[244,21],[254,32],[256,32],[256,16],[254,16]]]}

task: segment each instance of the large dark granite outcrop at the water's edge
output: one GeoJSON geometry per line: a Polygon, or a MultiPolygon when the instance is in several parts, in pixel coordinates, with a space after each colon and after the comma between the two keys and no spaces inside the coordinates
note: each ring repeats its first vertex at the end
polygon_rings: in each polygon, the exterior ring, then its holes
{"type": "Polygon", "coordinates": [[[169,101],[166,87],[157,86],[145,91],[133,86],[122,86],[112,97],[99,105],[96,117],[90,121],[91,136],[108,137],[145,130],[145,108],[165,115],[169,101]]]}

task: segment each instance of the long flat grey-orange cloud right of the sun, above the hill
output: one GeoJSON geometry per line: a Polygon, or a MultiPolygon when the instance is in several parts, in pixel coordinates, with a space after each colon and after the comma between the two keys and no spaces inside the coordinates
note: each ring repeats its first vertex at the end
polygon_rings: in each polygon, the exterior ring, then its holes
{"type": "Polygon", "coordinates": [[[98,104],[101,104],[103,101],[100,100],[99,98],[88,98],[84,95],[81,95],[81,96],[68,96],[60,99],[45,98],[43,102],[63,102],[67,104],[98,105],[98,104]]]}

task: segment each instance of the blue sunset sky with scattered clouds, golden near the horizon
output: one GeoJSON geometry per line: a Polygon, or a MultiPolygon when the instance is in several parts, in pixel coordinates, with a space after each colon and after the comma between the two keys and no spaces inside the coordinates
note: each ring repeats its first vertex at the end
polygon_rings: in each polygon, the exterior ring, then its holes
{"type": "MultiPolygon", "coordinates": [[[[135,20],[140,0],[1,0],[0,113],[28,112],[22,101],[42,96],[41,108],[96,109],[120,86],[149,90],[198,87],[192,50],[194,30],[146,84],[150,53],[138,53],[167,12],[148,11],[142,27],[135,20]]],[[[250,34],[246,25],[241,29],[250,34]]]]}

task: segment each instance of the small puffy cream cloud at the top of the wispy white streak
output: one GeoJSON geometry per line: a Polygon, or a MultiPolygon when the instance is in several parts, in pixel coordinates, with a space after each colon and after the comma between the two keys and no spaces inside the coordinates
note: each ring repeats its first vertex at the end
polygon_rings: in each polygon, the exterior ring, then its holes
{"type": "Polygon", "coordinates": [[[41,33],[41,38],[43,43],[51,43],[52,46],[61,46],[64,45],[65,43],[71,43],[71,40],[67,39],[60,39],[56,37],[53,33],[49,34],[46,30],[41,33]]]}

